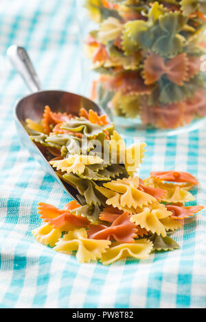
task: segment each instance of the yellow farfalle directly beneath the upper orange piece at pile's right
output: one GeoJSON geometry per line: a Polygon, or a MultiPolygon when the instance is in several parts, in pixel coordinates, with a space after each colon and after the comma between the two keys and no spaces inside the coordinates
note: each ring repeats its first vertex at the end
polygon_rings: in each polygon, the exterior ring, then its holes
{"type": "Polygon", "coordinates": [[[195,198],[192,193],[189,193],[188,190],[192,188],[192,184],[172,184],[168,182],[162,182],[161,180],[148,178],[144,180],[146,186],[151,186],[153,188],[161,188],[166,190],[167,193],[162,199],[168,203],[185,203],[187,201],[194,201],[195,198]]]}

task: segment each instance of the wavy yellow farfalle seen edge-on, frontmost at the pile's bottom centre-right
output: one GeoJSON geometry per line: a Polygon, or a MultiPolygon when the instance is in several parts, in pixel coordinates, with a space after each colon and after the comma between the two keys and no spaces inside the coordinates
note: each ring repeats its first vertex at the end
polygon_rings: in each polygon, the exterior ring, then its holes
{"type": "Polygon", "coordinates": [[[133,257],[137,259],[148,258],[152,251],[152,243],[148,239],[135,240],[133,244],[120,244],[107,249],[106,253],[102,254],[103,265],[112,264],[121,258],[133,257]]]}

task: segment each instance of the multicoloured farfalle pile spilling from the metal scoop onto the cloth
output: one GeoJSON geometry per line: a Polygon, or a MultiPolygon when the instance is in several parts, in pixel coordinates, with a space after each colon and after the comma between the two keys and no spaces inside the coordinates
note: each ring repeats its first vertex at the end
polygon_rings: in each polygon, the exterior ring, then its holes
{"type": "Polygon", "coordinates": [[[33,234],[55,251],[105,265],[147,258],[151,251],[178,249],[170,235],[203,209],[185,206],[198,184],[190,173],[152,172],[142,180],[137,169],[146,144],[127,147],[106,116],[93,110],[72,116],[46,106],[40,122],[27,119],[27,131],[58,177],[76,189],[76,201],[62,209],[38,205],[44,224],[33,234]]]}

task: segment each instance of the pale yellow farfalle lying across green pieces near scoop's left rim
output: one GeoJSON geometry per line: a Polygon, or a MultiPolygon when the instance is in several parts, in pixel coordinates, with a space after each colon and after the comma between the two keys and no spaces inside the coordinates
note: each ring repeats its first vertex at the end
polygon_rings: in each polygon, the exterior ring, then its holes
{"type": "Polygon", "coordinates": [[[54,160],[49,163],[52,164],[56,170],[61,170],[62,172],[67,171],[67,173],[83,173],[85,169],[85,164],[98,164],[102,163],[103,160],[98,156],[83,156],[74,154],[69,156],[67,159],[54,160]]]}

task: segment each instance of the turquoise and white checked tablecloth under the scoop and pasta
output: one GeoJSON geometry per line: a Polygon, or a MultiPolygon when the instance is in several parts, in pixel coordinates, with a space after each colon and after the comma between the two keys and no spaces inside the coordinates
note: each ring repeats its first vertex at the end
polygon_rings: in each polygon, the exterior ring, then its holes
{"type": "MultiPolygon", "coordinates": [[[[13,43],[30,53],[45,88],[78,92],[80,61],[75,0],[1,0],[0,4],[0,308],[205,308],[205,210],[173,236],[181,249],[121,260],[104,267],[38,244],[31,231],[41,220],[39,201],[69,201],[57,182],[21,147],[13,106],[27,94],[5,59],[13,43]],[[12,8],[12,10],[11,10],[12,8]]],[[[176,169],[198,177],[205,205],[206,129],[148,145],[141,177],[176,169]]]]}

